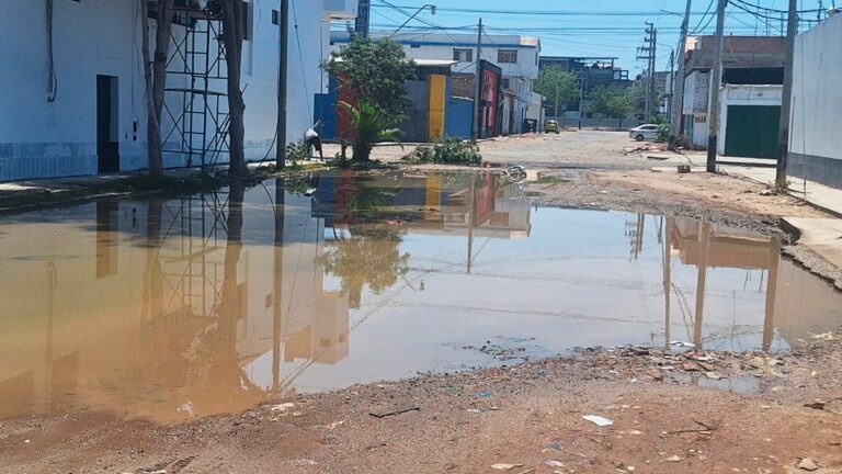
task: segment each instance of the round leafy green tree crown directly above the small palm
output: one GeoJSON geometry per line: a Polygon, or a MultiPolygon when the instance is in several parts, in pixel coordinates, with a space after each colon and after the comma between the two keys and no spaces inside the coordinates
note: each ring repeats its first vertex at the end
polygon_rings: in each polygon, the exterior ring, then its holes
{"type": "Polygon", "coordinates": [[[351,43],[330,54],[322,69],[340,86],[397,121],[409,110],[407,81],[416,78],[416,64],[391,40],[371,41],[352,35],[351,43]]]}

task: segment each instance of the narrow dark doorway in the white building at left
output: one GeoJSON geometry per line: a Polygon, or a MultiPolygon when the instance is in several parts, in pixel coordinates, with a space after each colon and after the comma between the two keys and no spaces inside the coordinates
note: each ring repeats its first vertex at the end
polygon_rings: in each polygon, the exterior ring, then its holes
{"type": "Polygon", "coordinates": [[[117,78],[96,76],[96,172],[120,172],[117,78]]]}

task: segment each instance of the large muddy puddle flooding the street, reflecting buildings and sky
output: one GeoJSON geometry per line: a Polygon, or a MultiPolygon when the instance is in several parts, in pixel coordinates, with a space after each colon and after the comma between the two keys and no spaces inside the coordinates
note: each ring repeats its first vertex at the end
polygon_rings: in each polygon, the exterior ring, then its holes
{"type": "Polygon", "coordinates": [[[534,207],[492,174],[278,184],[0,218],[0,417],[177,421],[500,348],[784,350],[842,324],[740,229],[534,207]]]}

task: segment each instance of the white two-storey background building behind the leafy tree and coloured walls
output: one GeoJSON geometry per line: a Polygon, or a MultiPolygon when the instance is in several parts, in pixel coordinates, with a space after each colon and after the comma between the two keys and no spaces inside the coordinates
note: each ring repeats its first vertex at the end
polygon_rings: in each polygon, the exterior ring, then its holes
{"type": "MultiPolygon", "coordinates": [[[[458,61],[453,66],[454,75],[474,75],[477,60],[476,34],[444,33],[398,33],[372,32],[372,38],[390,37],[400,43],[412,59],[444,59],[458,61]]],[[[349,42],[348,32],[331,33],[331,48],[339,49],[349,42]]],[[[541,41],[522,35],[483,35],[482,57],[499,66],[502,72],[502,87],[505,98],[503,104],[503,133],[520,133],[523,120],[533,102],[532,87],[538,78],[538,57],[541,41]]],[[[473,98],[468,90],[454,87],[455,95],[473,98]]]]}

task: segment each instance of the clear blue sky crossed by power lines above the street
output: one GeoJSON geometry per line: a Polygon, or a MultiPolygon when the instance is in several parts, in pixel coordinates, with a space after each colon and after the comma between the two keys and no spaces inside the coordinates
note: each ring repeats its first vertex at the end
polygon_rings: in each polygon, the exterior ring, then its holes
{"type": "MultiPolygon", "coordinates": [[[[842,0],[835,0],[842,7],[842,0]]],[[[634,77],[646,67],[637,59],[637,48],[644,46],[646,22],[658,30],[658,70],[668,70],[670,54],[678,47],[685,0],[372,0],[372,31],[396,30],[425,2],[437,7],[435,15],[422,11],[403,30],[401,36],[412,37],[433,26],[451,33],[476,34],[481,16],[489,34],[524,34],[538,36],[542,55],[610,56],[634,77]],[[455,11],[460,10],[460,11],[455,11]],[[474,10],[474,11],[465,11],[474,10]]],[[[830,8],[834,0],[798,0],[799,9],[830,8]]],[[[785,10],[787,0],[731,0],[727,8],[726,34],[781,35],[781,14],[761,9],[785,10]],[[753,5],[753,7],[752,7],[753,5]],[[774,20],[759,18],[739,7],[760,11],[774,20]]],[[[693,33],[713,34],[716,21],[715,0],[693,0],[690,27],[693,33]],[[705,14],[709,12],[708,14],[705,14]]],[[[817,19],[816,12],[805,13],[803,20],[817,19]]],[[[801,29],[815,25],[803,22],[801,29]]]]}

